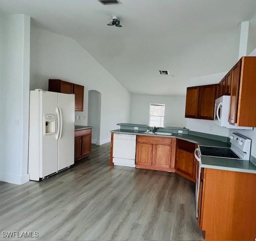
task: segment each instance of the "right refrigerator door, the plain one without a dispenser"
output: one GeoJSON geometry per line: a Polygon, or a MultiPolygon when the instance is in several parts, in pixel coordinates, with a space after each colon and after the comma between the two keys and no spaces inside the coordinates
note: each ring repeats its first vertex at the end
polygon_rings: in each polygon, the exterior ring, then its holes
{"type": "Polygon", "coordinates": [[[75,96],[58,93],[60,135],[58,138],[58,171],[74,164],[75,96]]]}

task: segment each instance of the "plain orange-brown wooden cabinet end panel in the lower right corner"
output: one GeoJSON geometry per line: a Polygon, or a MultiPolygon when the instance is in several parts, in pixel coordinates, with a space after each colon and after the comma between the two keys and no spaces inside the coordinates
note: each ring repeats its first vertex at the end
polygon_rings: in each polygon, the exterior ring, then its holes
{"type": "Polygon", "coordinates": [[[256,175],[203,168],[199,192],[200,228],[206,240],[256,238],[256,175]]]}

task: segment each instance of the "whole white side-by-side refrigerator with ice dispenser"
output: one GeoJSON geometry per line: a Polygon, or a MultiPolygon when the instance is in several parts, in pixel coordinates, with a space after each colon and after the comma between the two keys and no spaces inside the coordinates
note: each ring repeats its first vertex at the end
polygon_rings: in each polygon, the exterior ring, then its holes
{"type": "Polygon", "coordinates": [[[74,164],[75,99],[30,91],[28,173],[39,181],[74,164]]]}

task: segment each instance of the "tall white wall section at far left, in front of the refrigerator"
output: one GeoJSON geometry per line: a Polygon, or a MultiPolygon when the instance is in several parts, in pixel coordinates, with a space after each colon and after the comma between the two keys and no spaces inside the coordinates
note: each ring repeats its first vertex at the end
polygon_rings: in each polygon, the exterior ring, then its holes
{"type": "Polygon", "coordinates": [[[30,17],[0,14],[0,180],[23,184],[28,176],[30,17]]]}

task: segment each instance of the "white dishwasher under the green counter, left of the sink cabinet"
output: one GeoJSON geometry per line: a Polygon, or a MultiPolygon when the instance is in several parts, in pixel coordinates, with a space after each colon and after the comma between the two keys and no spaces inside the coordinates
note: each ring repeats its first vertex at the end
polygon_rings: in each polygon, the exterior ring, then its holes
{"type": "Polygon", "coordinates": [[[136,135],[114,134],[113,163],[135,167],[136,135]]]}

